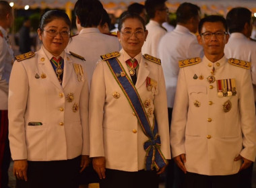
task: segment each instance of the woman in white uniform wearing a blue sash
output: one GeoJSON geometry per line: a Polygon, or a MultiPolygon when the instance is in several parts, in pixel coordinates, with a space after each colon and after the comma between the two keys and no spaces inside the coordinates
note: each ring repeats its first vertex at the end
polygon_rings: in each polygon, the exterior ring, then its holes
{"type": "Polygon", "coordinates": [[[158,187],[170,159],[160,59],[141,54],[148,31],[137,14],[119,23],[123,49],[102,55],[90,89],[90,157],[104,187],[158,187]]]}

